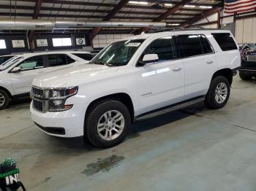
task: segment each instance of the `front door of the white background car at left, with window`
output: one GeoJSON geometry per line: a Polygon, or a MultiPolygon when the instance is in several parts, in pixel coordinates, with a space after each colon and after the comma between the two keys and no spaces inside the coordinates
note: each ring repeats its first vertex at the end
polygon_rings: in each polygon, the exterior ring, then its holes
{"type": "Polygon", "coordinates": [[[45,69],[44,63],[44,56],[36,55],[18,63],[16,67],[20,67],[20,72],[10,71],[10,80],[16,95],[30,92],[32,80],[45,69]]]}

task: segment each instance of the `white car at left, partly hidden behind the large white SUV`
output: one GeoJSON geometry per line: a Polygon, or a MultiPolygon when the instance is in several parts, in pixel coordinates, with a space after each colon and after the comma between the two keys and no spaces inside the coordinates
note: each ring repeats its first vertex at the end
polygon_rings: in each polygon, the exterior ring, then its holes
{"type": "Polygon", "coordinates": [[[88,63],[90,52],[42,52],[15,55],[0,65],[0,110],[10,100],[29,96],[34,77],[56,69],[88,63]],[[87,60],[85,60],[87,59],[87,60]]]}

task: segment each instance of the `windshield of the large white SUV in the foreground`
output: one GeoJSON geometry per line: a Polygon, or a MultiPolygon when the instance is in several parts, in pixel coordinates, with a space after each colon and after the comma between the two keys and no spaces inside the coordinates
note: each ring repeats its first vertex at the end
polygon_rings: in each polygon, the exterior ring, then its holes
{"type": "Polygon", "coordinates": [[[133,39],[113,42],[105,47],[99,54],[91,60],[91,63],[107,66],[127,65],[132,55],[138,50],[144,39],[133,39]]]}

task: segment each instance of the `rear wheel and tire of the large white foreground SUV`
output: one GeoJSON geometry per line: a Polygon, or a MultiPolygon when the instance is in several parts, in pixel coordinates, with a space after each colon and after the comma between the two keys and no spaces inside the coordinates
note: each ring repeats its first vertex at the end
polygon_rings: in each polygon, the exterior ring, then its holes
{"type": "Polygon", "coordinates": [[[227,104],[230,97],[230,82],[227,78],[219,76],[211,81],[206,95],[205,104],[212,109],[219,109],[227,104]]]}

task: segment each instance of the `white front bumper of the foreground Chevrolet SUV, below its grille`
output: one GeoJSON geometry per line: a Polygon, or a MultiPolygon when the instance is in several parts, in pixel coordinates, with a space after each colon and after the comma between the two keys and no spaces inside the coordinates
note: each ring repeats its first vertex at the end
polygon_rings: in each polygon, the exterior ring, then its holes
{"type": "Polygon", "coordinates": [[[83,124],[86,108],[75,104],[64,112],[39,112],[30,104],[31,118],[37,127],[50,136],[77,137],[83,136],[83,124]]]}

